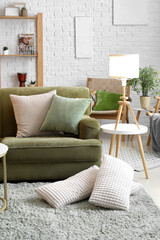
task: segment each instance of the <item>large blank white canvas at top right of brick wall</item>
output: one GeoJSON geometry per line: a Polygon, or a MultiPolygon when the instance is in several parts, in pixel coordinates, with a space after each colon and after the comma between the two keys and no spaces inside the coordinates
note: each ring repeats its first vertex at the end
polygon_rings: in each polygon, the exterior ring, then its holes
{"type": "Polygon", "coordinates": [[[113,0],[114,25],[147,25],[146,0],[113,0]]]}

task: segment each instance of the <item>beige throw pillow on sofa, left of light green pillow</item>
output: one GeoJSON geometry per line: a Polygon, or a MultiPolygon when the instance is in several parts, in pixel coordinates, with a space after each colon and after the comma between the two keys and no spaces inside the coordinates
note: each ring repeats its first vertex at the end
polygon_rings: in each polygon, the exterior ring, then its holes
{"type": "Polygon", "coordinates": [[[30,96],[10,95],[17,123],[16,137],[30,137],[39,134],[39,129],[55,94],[56,90],[30,96]]]}

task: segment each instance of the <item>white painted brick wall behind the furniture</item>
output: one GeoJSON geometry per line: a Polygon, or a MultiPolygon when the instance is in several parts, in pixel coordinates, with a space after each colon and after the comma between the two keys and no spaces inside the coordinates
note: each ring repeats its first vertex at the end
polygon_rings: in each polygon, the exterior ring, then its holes
{"type": "MultiPolygon", "coordinates": [[[[15,0],[1,0],[4,7],[15,0]]],[[[16,2],[23,2],[17,0],[16,2]]],[[[26,0],[30,15],[44,14],[44,86],[85,86],[87,77],[108,77],[108,55],[139,53],[140,65],[152,64],[160,70],[160,0],[149,0],[148,26],[112,25],[112,0],[26,0]],[[75,58],[74,17],[93,17],[93,58],[75,58]]],[[[19,33],[34,33],[33,20],[1,20],[0,50],[8,45],[10,53],[17,49],[19,33]]],[[[3,58],[2,87],[18,86],[16,73],[27,72],[28,80],[36,78],[34,58],[3,58]]],[[[133,107],[140,106],[132,93],[133,107]]],[[[144,114],[141,123],[148,122],[144,114]]]]}

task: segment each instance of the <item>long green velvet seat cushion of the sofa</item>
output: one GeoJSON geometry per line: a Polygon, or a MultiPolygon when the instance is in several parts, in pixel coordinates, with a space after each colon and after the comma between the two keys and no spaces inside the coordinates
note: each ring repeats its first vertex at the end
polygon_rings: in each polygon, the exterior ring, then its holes
{"type": "Polygon", "coordinates": [[[98,139],[68,137],[3,138],[8,145],[8,163],[95,162],[101,159],[102,144],[98,139]]]}

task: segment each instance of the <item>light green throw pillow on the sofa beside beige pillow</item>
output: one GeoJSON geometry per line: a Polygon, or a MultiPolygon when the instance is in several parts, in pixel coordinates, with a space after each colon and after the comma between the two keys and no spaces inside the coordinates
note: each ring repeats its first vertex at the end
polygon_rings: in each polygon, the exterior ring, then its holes
{"type": "Polygon", "coordinates": [[[90,99],[54,95],[40,131],[78,134],[78,124],[90,103],[90,99]]]}

